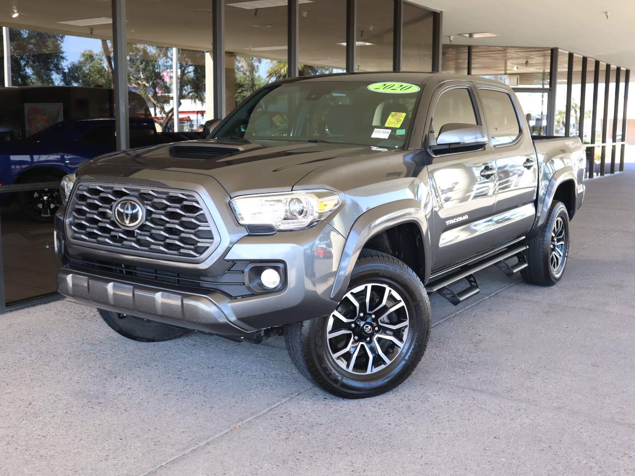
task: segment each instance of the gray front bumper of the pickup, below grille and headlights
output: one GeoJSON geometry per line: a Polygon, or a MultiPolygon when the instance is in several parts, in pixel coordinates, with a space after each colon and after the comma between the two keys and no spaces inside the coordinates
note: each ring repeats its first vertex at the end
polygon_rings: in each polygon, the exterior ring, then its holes
{"type": "MultiPolygon", "coordinates": [[[[58,228],[57,233],[63,233],[63,229],[58,228]]],[[[327,223],[309,230],[248,235],[239,239],[224,256],[224,261],[284,263],[286,286],[270,294],[243,298],[230,298],[217,292],[193,294],[67,266],[58,274],[58,291],[72,301],[91,307],[207,333],[257,340],[257,334],[269,327],[305,321],[333,311],[337,302],[331,300],[330,292],[344,242],[344,237],[327,223]]],[[[63,239],[60,248],[59,254],[63,256],[63,239]]]]}

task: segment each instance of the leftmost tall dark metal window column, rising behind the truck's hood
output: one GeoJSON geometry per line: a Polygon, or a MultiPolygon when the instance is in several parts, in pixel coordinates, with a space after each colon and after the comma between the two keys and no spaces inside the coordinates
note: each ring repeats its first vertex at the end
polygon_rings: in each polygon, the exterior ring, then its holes
{"type": "Polygon", "coordinates": [[[112,62],[114,69],[115,145],[130,149],[128,131],[128,38],[126,35],[126,0],[112,0],[112,62]]]}

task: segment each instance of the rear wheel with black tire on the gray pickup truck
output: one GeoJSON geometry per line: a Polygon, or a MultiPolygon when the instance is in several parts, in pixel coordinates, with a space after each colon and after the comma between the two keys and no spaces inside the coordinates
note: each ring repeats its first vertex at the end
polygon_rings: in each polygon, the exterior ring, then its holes
{"type": "Polygon", "coordinates": [[[528,246],[528,267],[521,270],[523,280],[537,286],[553,286],[560,281],[569,255],[569,213],[562,202],[551,204],[547,221],[529,239],[528,246]]]}

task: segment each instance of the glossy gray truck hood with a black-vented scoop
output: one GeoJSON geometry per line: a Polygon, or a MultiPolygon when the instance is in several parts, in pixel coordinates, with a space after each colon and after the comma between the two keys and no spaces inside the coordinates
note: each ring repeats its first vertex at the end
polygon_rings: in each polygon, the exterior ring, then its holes
{"type": "Polygon", "coordinates": [[[291,190],[304,176],[329,162],[382,152],[386,151],[349,144],[187,141],[102,155],[84,164],[78,174],[117,178],[144,169],[197,173],[214,177],[233,197],[291,190]]]}

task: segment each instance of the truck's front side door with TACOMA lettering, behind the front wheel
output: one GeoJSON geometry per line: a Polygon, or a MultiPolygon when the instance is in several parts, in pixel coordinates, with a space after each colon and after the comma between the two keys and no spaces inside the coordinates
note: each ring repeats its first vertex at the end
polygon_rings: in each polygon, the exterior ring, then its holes
{"type": "Polygon", "coordinates": [[[497,173],[488,143],[448,149],[436,144],[447,128],[469,124],[483,127],[471,82],[442,83],[430,104],[424,149],[431,190],[436,198],[431,227],[434,272],[493,246],[497,173]]]}

